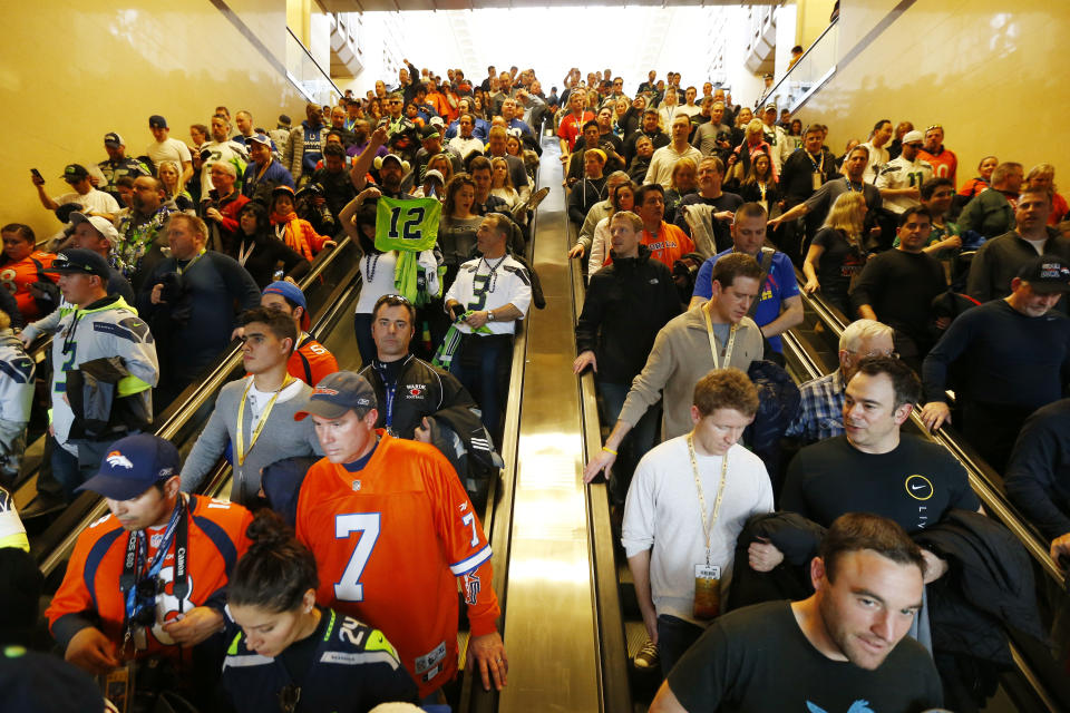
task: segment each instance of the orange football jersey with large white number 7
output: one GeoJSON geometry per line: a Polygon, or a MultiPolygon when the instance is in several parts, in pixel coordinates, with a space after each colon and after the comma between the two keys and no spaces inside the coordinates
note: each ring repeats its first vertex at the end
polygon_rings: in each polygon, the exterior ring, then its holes
{"type": "Polygon", "coordinates": [[[317,602],[382,631],[424,697],[457,670],[458,577],[471,635],[496,629],[490,546],[438,449],[377,432],[362,470],[325,458],[309,469],[298,539],[315,555],[317,602]]]}

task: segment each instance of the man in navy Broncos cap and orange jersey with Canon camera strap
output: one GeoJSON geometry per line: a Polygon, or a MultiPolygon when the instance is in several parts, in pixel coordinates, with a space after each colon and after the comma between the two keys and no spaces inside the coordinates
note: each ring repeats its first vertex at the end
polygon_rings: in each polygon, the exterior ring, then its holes
{"type": "MultiPolygon", "coordinates": [[[[181,494],[181,465],[169,441],[128,436],[78,488],[104,497],[111,512],[78,536],[45,616],[79,668],[104,674],[154,656],[192,686],[188,666],[207,652],[197,645],[223,631],[227,578],[249,548],[252,514],[181,494]],[[194,655],[183,655],[185,647],[194,655]]],[[[211,681],[195,685],[213,690],[211,681]]]]}

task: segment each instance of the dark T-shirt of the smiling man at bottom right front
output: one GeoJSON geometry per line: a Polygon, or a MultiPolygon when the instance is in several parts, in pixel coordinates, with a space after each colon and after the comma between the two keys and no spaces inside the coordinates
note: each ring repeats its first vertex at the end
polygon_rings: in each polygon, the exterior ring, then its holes
{"type": "Polygon", "coordinates": [[[818,652],[788,602],[726,614],[669,674],[689,713],[917,713],[940,707],[940,675],[928,652],[904,637],[875,671],[818,652]]]}

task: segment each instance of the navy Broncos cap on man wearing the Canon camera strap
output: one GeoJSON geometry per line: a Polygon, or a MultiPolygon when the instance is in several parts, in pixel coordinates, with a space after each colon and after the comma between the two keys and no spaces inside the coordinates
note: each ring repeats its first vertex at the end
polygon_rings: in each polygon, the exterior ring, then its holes
{"type": "Polygon", "coordinates": [[[129,500],[181,469],[178,449],[171,441],[152,433],[135,433],[111,443],[97,475],[75,490],[129,500]]]}

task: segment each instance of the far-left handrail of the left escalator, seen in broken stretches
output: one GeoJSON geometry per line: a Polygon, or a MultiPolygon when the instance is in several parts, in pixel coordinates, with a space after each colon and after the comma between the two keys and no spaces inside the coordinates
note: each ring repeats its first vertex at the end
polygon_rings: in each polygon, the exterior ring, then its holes
{"type": "MultiPolygon", "coordinates": [[[[333,248],[329,248],[329,253],[328,251],[323,251],[323,253],[321,253],[321,256],[315,260],[312,270],[309,271],[304,279],[299,283],[302,292],[312,285],[313,282],[323,274],[323,271],[329,264],[347,252],[344,248],[349,244],[350,240],[348,236],[346,236],[340,240],[338,245],[335,245],[333,248]]],[[[207,401],[207,399],[210,399],[231,380],[230,375],[239,367],[241,359],[241,345],[235,345],[223,356],[221,356],[216,362],[216,365],[212,368],[207,378],[202,380],[200,383],[194,384],[192,391],[187,389],[187,391],[183,393],[184,398],[177,408],[172,410],[172,407],[168,407],[168,409],[165,411],[166,417],[164,418],[163,422],[154,423],[154,433],[168,440],[174,438],[185,426],[185,423],[193,418],[193,416],[205,403],[205,401],[207,401]]],[[[217,471],[215,475],[218,475],[217,471]]],[[[51,573],[67,559],[70,551],[74,549],[75,541],[78,539],[78,535],[81,533],[81,530],[107,514],[107,504],[103,498],[87,498],[86,500],[88,507],[82,510],[84,514],[76,514],[70,517],[67,517],[66,512],[64,514],[65,521],[75,519],[77,525],[70,527],[67,530],[67,535],[60,540],[60,543],[45,553],[39,560],[39,568],[46,577],[51,575],[51,573]]],[[[74,507],[74,504],[69,507],[74,507]]]]}

